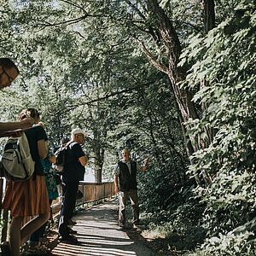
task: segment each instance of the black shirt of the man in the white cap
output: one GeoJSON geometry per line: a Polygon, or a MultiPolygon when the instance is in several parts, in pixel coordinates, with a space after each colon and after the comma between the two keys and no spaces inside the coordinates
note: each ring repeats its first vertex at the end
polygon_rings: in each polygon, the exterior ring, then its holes
{"type": "Polygon", "coordinates": [[[64,183],[73,183],[84,180],[85,168],[79,162],[79,158],[84,155],[84,151],[79,143],[70,143],[68,145],[62,176],[64,183]]]}

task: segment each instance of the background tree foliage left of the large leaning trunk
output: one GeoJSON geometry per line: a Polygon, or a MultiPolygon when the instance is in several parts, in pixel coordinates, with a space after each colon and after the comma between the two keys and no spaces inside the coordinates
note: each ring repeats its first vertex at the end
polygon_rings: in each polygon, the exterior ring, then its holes
{"type": "MultiPolygon", "coordinates": [[[[1,119],[38,108],[50,147],[80,126],[89,133],[84,149],[90,165],[102,169],[104,164],[108,179],[116,160],[106,161],[105,155],[129,146],[139,163],[149,155],[163,175],[170,167],[183,183],[187,159],[171,86],[131,41],[125,2],[17,1],[6,8],[3,35],[15,24],[6,52],[15,53],[20,76],[0,99],[5,102],[1,119]]],[[[162,181],[156,190],[169,196],[162,181]]]]}

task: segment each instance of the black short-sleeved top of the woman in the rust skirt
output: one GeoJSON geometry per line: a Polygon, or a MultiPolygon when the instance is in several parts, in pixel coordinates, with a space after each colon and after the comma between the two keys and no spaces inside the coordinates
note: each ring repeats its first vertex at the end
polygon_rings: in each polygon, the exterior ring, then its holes
{"type": "Polygon", "coordinates": [[[27,141],[30,148],[30,154],[32,155],[32,160],[35,161],[35,174],[44,175],[44,168],[41,164],[41,160],[38,154],[38,141],[47,141],[47,135],[44,128],[41,125],[36,125],[25,132],[27,141]]]}

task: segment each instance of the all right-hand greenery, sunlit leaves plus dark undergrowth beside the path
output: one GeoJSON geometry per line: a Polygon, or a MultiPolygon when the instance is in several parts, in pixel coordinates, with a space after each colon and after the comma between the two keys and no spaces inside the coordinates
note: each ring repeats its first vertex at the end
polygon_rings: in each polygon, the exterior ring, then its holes
{"type": "Polygon", "coordinates": [[[256,254],[255,27],[255,1],[242,1],[206,37],[191,38],[182,56],[182,63],[194,63],[182,86],[193,90],[207,80],[194,97],[205,112],[191,120],[189,135],[203,139],[206,127],[215,132],[213,142],[191,157],[195,164],[188,172],[192,178],[207,172],[211,183],[177,190],[168,183],[168,205],[159,204],[148,216],[150,232],[165,237],[170,250],[193,256],[256,254]]]}

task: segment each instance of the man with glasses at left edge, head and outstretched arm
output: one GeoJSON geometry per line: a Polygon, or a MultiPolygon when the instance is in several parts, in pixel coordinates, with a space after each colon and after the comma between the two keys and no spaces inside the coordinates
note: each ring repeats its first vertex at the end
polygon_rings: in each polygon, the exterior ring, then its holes
{"type": "MultiPolygon", "coordinates": [[[[9,58],[0,58],[0,90],[4,87],[9,87],[18,74],[19,69],[14,61],[11,61],[9,58]]],[[[20,122],[0,122],[0,137],[3,137],[1,133],[3,134],[6,131],[32,127],[32,122],[33,120],[31,118],[24,119],[20,122]]]]}

